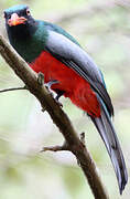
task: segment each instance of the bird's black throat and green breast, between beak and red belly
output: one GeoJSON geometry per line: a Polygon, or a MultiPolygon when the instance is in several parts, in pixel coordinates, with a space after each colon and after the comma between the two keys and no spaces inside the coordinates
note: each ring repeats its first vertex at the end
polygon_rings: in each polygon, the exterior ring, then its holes
{"type": "Polygon", "coordinates": [[[8,27],[8,35],[12,46],[29,63],[33,62],[44,51],[47,38],[41,22],[36,22],[35,25],[8,27]]]}

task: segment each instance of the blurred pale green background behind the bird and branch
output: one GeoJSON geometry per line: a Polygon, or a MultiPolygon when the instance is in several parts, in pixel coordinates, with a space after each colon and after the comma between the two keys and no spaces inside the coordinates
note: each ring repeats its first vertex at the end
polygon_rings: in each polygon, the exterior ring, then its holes
{"type": "MultiPolygon", "coordinates": [[[[26,3],[36,19],[62,25],[74,35],[104,72],[113,102],[113,119],[130,170],[130,1],[128,0],[0,0],[0,32],[6,35],[2,12],[26,3]]],[[[23,85],[0,57],[0,88],[23,85]]],[[[62,98],[64,111],[86,145],[111,199],[122,197],[105,146],[91,122],[62,98]]],[[[0,94],[0,199],[93,199],[89,186],[71,153],[40,153],[43,146],[62,144],[63,137],[48,114],[26,91],[0,94]]]]}

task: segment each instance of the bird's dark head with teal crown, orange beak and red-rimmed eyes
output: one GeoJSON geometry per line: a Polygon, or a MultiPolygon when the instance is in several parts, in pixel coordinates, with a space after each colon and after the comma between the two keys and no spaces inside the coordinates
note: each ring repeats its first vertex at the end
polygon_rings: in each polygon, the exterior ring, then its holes
{"type": "Polygon", "coordinates": [[[25,39],[35,29],[35,20],[28,6],[20,4],[4,10],[4,19],[8,34],[19,39],[25,39]]]}

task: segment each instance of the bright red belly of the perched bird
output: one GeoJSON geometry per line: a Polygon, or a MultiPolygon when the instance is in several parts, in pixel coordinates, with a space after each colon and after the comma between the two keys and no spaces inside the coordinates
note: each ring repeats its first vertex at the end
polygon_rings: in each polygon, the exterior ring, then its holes
{"type": "Polygon", "coordinates": [[[96,94],[90,88],[89,83],[74,70],[59,62],[47,52],[42,52],[30,66],[36,73],[42,72],[44,74],[45,83],[53,80],[59,82],[53,84],[51,87],[52,90],[65,91],[64,96],[69,97],[75,105],[91,116],[100,116],[100,107],[96,94]]]}

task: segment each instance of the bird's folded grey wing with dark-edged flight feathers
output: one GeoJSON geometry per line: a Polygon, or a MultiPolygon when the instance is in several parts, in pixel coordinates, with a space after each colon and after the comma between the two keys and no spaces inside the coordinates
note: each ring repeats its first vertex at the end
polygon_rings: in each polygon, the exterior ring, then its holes
{"type": "Polygon", "coordinates": [[[113,107],[102,74],[91,57],[79,45],[65,35],[50,30],[45,50],[89,82],[91,88],[106,104],[110,116],[113,115],[113,107]]]}

